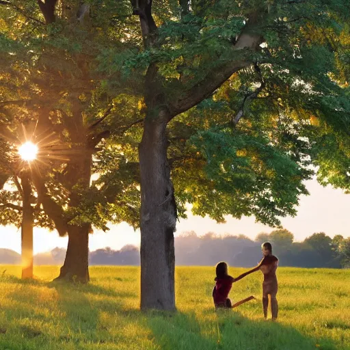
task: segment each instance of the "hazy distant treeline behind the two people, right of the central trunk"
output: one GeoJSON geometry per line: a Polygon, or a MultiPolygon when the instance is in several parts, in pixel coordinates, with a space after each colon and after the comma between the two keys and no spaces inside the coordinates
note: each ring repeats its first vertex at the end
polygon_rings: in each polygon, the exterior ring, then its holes
{"type": "Polygon", "coordinates": [[[349,239],[336,235],[334,239],[324,232],[314,233],[303,242],[294,242],[288,230],[260,233],[254,241],[244,235],[217,236],[212,232],[198,237],[196,232],[185,232],[175,239],[177,265],[215,265],[224,260],[230,266],[252,267],[261,257],[261,244],[269,241],[280,266],[291,267],[347,267],[349,252],[344,245],[349,239]]]}

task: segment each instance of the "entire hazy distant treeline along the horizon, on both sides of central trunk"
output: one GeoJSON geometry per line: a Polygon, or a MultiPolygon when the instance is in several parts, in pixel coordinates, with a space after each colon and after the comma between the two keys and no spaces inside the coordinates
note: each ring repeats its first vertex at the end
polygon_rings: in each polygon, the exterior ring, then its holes
{"type": "MultiPolygon", "coordinates": [[[[216,265],[224,260],[230,266],[252,267],[261,256],[261,243],[269,241],[273,254],[280,259],[280,266],[330,267],[340,269],[350,265],[350,238],[340,234],[333,239],[324,232],[314,233],[303,242],[294,242],[288,230],[260,233],[254,241],[244,235],[219,236],[208,232],[198,236],[196,232],[184,232],[175,238],[176,265],[216,265]]],[[[66,250],[55,248],[49,253],[37,254],[35,265],[62,265],[66,250]]],[[[90,252],[90,265],[139,265],[139,249],[125,245],[121,250],[104,249],[90,252]]],[[[0,264],[20,264],[21,256],[0,249],[0,264]]]]}

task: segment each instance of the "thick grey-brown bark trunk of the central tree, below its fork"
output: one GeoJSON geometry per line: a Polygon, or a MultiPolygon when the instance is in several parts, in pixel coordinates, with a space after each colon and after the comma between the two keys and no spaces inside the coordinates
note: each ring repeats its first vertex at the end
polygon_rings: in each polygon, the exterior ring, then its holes
{"type": "Polygon", "coordinates": [[[175,310],[176,204],[167,162],[167,122],[164,121],[164,113],[166,111],[159,111],[158,116],[146,118],[142,142],[139,145],[143,310],[175,310]]]}

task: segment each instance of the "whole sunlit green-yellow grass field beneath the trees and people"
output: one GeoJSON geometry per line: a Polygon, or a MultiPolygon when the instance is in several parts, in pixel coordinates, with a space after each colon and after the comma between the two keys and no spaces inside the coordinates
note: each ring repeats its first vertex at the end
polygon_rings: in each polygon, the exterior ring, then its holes
{"type": "Polygon", "coordinates": [[[258,301],[215,313],[213,267],[177,267],[178,312],[142,313],[139,268],[92,267],[86,286],[50,282],[58,271],[36,267],[30,282],[20,267],[0,266],[1,350],[350,349],[349,270],[279,268],[277,323],[262,319],[261,273],[230,293],[258,301]]]}

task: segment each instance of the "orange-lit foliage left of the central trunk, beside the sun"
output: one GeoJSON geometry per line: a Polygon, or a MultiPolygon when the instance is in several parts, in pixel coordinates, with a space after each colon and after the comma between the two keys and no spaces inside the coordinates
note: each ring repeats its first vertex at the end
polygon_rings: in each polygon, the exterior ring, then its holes
{"type": "MultiPolygon", "coordinates": [[[[49,140],[38,131],[33,135],[45,148],[36,167],[44,180],[46,192],[55,202],[51,204],[55,208],[58,208],[55,204],[60,207],[57,215],[69,225],[88,223],[107,230],[109,221],[128,221],[137,226],[137,172],[135,166],[129,167],[126,163],[135,159],[127,148],[128,144],[129,148],[130,144],[135,147],[132,131],[137,129],[137,125],[129,133],[127,129],[139,117],[139,99],[124,93],[130,89],[130,85],[118,87],[116,84],[105,84],[106,77],[98,73],[96,66],[96,57],[112,44],[125,49],[129,47],[128,43],[122,44],[120,41],[120,26],[113,29],[111,23],[120,21],[116,14],[124,18],[131,5],[128,1],[118,4],[107,1],[100,6],[99,1],[92,1],[90,6],[94,23],[85,18],[81,25],[77,25],[79,2],[64,1],[57,3],[57,21],[44,25],[36,1],[1,4],[1,40],[4,44],[1,46],[3,59],[0,64],[3,92],[0,101],[1,137],[4,146],[16,149],[19,140],[14,142],[6,133],[2,133],[3,130],[9,131],[10,122],[21,127],[21,124],[33,121],[46,134],[51,133],[49,140]],[[13,22],[16,25],[12,25],[13,22]],[[114,144],[123,147],[126,144],[126,157],[111,159],[117,148],[111,143],[104,147],[106,142],[103,135],[105,138],[113,135],[114,144]],[[125,142],[122,141],[124,138],[125,142]],[[97,144],[100,145],[95,150],[97,144]],[[94,154],[94,178],[100,176],[90,187],[86,181],[83,184],[79,179],[83,176],[79,170],[72,170],[79,168],[86,153],[90,153],[90,157],[94,154]],[[105,157],[105,160],[102,161],[101,157],[105,157]],[[122,168],[124,171],[120,171],[122,168]],[[132,174],[131,178],[129,174],[132,174]],[[123,176],[129,183],[125,189],[123,176]],[[114,183],[118,187],[111,191],[114,183]],[[79,205],[70,203],[72,196],[79,198],[79,205]],[[129,206],[125,206],[125,203],[129,206]]],[[[119,148],[118,153],[122,152],[119,148]]],[[[89,182],[90,179],[87,179],[89,182]]],[[[38,190],[36,187],[34,189],[38,190]]],[[[33,192],[33,198],[35,196],[36,192],[33,192]]],[[[39,214],[38,218],[42,217],[41,211],[39,214]]],[[[17,221],[15,216],[15,211],[5,208],[2,223],[19,222],[18,215],[17,221]]],[[[48,223],[52,228],[52,221],[48,223]]],[[[59,233],[64,234],[60,230],[59,233]]]]}

